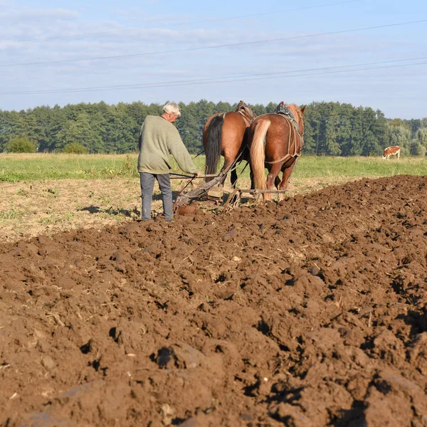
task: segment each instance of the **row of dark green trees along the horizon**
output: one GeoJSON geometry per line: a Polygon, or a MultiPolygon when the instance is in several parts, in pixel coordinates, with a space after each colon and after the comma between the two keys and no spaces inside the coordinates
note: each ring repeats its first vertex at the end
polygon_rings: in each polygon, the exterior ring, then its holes
{"type": "MultiPolygon", "coordinates": [[[[234,110],[228,102],[180,103],[177,120],[191,153],[203,149],[204,124],[214,112],[234,110]]],[[[273,112],[277,103],[251,105],[256,115],[273,112]]],[[[132,102],[107,105],[80,103],[31,110],[0,110],[0,152],[126,153],[137,149],[139,129],[147,115],[159,115],[162,105],[132,102]],[[23,149],[23,147],[26,147],[23,149]]],[[[387,120],[380,110],[339,102],[312,102],[305,110],[305,154],[370,156],[400,145],[404,154],[425,155],[427,118],[387,120]]]]}

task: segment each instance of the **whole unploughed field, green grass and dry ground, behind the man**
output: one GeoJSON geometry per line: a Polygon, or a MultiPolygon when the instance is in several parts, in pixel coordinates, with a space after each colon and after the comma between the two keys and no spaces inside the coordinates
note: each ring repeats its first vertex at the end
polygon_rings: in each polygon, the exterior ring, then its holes
{"type": "MultiPolygon", "coordinates": [[[[204,157],[195,162],[203,170],[204,157]]],[[[176,165],[174,171],[181,172],[176,165]]],[[[397,174],[427,176],[427,160],[303,156],[291,176],[288,195],[397,174]]],[[[134,221],[141,209],[138,178],[136,154],[0,154],[0,241],[134,221]]],[[[173,181],[173,189],[184,182],[173,181]]],[[[248,169],[238,186],[249,188],[248,169]]],[[[157,188],[154,191],[152,207],[160,212],[161,197],[157,188]]]]}

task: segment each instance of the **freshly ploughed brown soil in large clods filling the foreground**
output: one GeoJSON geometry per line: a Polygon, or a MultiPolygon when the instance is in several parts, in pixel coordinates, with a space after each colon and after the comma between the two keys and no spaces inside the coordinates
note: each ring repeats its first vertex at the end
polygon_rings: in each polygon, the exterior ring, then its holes
{"type": "Polygon", "coordinates": [[[1,426],[427,426],[427,180],[0,246],[1,426]]]}

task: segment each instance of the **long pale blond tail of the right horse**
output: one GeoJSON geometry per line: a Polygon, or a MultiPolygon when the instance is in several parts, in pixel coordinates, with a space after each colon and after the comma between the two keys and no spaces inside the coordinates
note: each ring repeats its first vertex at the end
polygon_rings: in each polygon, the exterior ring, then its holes
{"type": "Polygon", "coordinates": [[[255,189],[265,190],[265,137],[267,136],[270,120],[262,120],[255,127],[251,144],[251,167],[255,189]]]}

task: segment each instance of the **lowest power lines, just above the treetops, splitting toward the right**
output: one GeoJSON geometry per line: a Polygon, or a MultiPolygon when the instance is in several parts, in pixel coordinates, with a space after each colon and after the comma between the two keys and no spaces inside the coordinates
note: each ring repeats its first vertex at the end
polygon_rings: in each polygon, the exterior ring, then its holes
{"type": "Polygon", "coordinates": [[[214,84],[214,83],[231,83],[231,82],[241,82],[241,81],[251,81],[251,80],[272,80],[275,78],[288,78],[288,77],[300,77],[305,75],[321,75],[321,74],[334,74],[334,73],[350,73],[354,71],[364,71],[364,70],[381,70],[384,68],[400,68],[408,67],[411,65],[425,65],[427,61],[411,64],[395,64],[395,65],[384,65],[380,67],[365,67],[365,68],[354,68],[350,70],[342,70],[342,68],[349,67],[361,67],[364,65],[381,65],[386,63],[396,63],[404,62],[408,60],[422,60],[427,59],[427,56],[422,56],[419,58],[406,58],[406,59],[396,59],[396,60],[384,60],[377,61],[372,63],[359,63],[352,65],[337,65],[334,67],[325,67],[325,68],[305,68],[302,70],[290,70],[290,71],[280,71],[276,73],[259,73],[259,74],[250,74],[250,75],[236,75],[228,76],[222,78],[211,78],[211,79],[198,79],[198,80],[175,80],[172,82],[159,82],[159,83],[142,83],[137,85],[115,85],[115,86],[98,86],[93,88],[75,88],[75,89],[58,89],[58,90],[33,90],[33,91],[22,91],[22,92],[4,92],[0,95],[43,95],[43,94],[52,94],[52,93],[79,93],[79,92],[97,92],[100,90],[127,90],[127,89],[139,89],[139,88],[167,88],[174,86],[188,86],[188,85],[203,85],[203,84],[214,84]],[[337,70],[337,68],[341,68],[337,70]]]}

